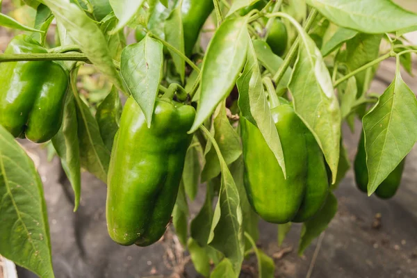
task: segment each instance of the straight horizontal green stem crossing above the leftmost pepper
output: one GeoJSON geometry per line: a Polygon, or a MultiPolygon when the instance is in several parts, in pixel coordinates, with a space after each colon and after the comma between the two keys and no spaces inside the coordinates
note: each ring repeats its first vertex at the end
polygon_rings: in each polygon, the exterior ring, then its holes
{"type": "Polygon", "coordinates": [[[90,62],[84,54],[0,54],[0,63],[39,60],[75,60],[90,62]]]}

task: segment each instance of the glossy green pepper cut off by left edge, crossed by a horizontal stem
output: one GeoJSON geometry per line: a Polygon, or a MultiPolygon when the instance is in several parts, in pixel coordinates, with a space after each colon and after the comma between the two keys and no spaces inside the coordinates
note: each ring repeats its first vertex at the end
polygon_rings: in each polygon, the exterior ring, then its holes
{"type": "MultiPolygon", "coordinates": [[[[46,54],[28,35],[17,35],[5,54],[46,54]]],[[[0,64],[0,124],[15,137],[46,142],[60,129],[69,76],[53,61],[0,64]]]]}

